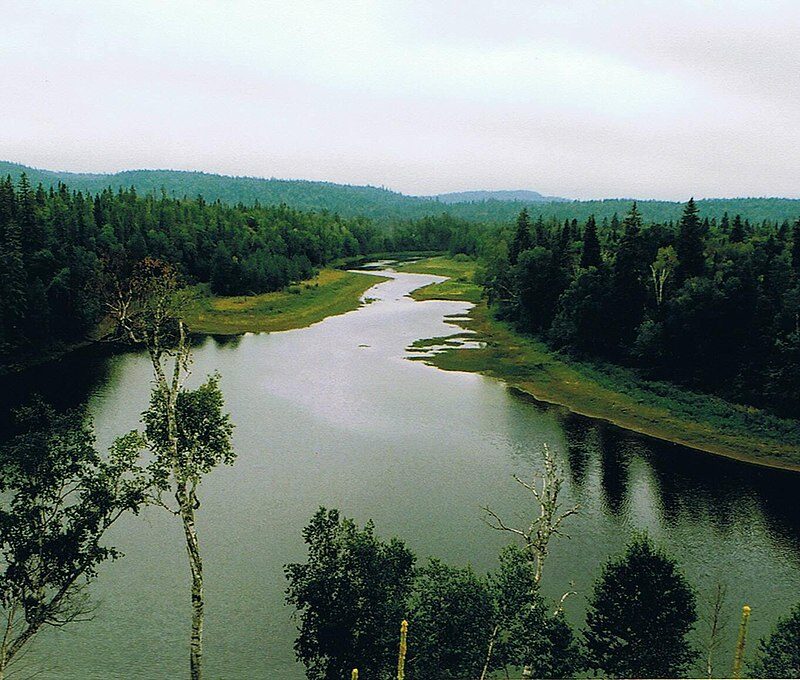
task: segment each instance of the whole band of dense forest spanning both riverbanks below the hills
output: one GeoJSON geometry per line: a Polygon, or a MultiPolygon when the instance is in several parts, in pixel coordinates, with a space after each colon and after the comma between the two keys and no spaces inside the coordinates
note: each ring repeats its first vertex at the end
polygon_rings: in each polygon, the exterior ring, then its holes
{"type": "MultiPolygon", "coordinates": [[[[574,204],[561,204],[574,205],[574,204]]],[[[0,182],[0,357],[82,340],[102,318],[104,263],[173,264],[220,295],[278,290],[339,258],[482,255],[501,317],[555,348],[727,399],[800,415],[800,222],[739,213],[586,220],[526,209],[514,229],[451,213],[397,222],[204,198],[0,182]]]]}

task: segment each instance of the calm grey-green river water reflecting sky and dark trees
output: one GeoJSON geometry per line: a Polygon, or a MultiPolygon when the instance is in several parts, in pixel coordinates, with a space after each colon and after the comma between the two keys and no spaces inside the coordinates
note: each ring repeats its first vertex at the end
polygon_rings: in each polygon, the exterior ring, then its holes
{"type": "MultiPolygon", "coordinates": [[[[300,532],[319,505],[374,519],[379,534],[403,537],[420,558],[485,571],[507,538],[482,523],[480,507],[510,519],[530,511],[511,475],[536,469],[542,442],[566,474],[565,501],[581,505],[543,583],[555,596],[574,582],[573,622],[600,565],[633,529],[679,557],[701,600],[717,579],[727,584],[723,674],[742,604],[753,607],[752,650],[800,600],[800,475],[627,433],[501,382],[409,361],[414,340],[459,332],[445,316],[469,305],[414,302],[407,293],[438,277],[391,275],[355,312],[306,329],[207,338],[196,349],[194,378],[223,376],[239,452],[201,488],[208,678],[303,677],[283,565],[304,558],[300,532]]],[[[32,391],[60,405],[88,402],[105,446],[137,427],[149,380],[143,355],[84,352],[0,389],[4,407],[32,391]]],[[[178,522],[151,509],[112,538],[126,556],[92,586],[95,619],[42,636],[26,659],[44,669],[39,677],[186,675],[188,567],[178,522]]]]}

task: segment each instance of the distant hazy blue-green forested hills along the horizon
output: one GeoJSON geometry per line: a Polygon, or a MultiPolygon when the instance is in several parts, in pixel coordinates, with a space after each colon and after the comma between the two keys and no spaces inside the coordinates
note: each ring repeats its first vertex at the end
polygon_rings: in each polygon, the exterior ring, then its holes
{"type": "MultiPolygon", "coordinates": [[[[178,170],[80,174],[38,170],[0,161],[0,177],[10,174],[14,181],[18,181],[23,172],[28,175],[33,186],[41,182],[45,188],[64,182],[71,189],[92,194],[100,193],[108,187],[116,190],[133,186],[140,194],[156,195],[160,195],[163,189],[173,198],[203,196],[206,201],[219,199],[224,203],[245,205],[256,202],[261,205],[285,203],[302,210],[328,210],[343,217],[369,217],[381,223],[443,212],[472,222],[508,223],[516,218],[522,207],[528,206],[534,217],[542,215],[545,219],[552,217],[560,221],[567,218],[586,220],[589,215],[594,214],[602,225],[604,218],[610,222],[615,213],[621,219],[631,203],[629,198],[570,201],[541,197],[534,200],[536,192],[465,192],[460,195],[444,194],[440,197],[407,196],[379,187],[331,182],[230,177],[178,170]],[[453,202],[454,196],[456,202],[453,202]],[[496,200],[501,197],[516,200],[496,200]],[[519,200],[521,198],[524,200],[519,200]]],[[[741,215],[742,219],[753,224],[760,224],[764,220],[794,220],[800,214],[800,200],[787,198],[707,199],[697,201],[697,206],[701,218],[716,218],[719,221],[727,212],[731,218],[741,215]]],[[[639,209],[646,222],[676,222],[682,213],[681,203],[671,201],[639,201],[639,209]]]]}

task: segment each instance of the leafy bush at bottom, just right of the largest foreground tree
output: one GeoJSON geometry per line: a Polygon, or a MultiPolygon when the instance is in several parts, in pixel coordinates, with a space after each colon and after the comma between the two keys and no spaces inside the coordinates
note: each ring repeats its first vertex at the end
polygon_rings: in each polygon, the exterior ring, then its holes
{"type": "Polygon", "coordinates": [[[409,680],[478,677],[492,633],[488,584],[469,567],[431,559],[414,582],[409,622],[409,680]]]}

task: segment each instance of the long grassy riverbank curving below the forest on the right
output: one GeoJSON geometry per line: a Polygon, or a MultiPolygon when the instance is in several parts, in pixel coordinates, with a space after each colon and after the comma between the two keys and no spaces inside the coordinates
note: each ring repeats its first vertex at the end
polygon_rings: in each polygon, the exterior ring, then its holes
{"type": "MultiPolygon", "coordinates": [[[[474,262],[430,258],[404,265],[409,272],[452,279],[421,288],[414,299],[475,302],[468,321],[459,324],[478,334],[483,349],[447,349],[426,359],[439,368],[472,371],[504,380],[542,401],[602,418],[621,427],[761,465],[800,470],[800,424],[758,409],[644,380],[618,366],[579,362],[550,350],[494,319],[480,287],[471,282],[474,262]]],[[[417,343],[435,343],[435,339],[417,343]]]]}

